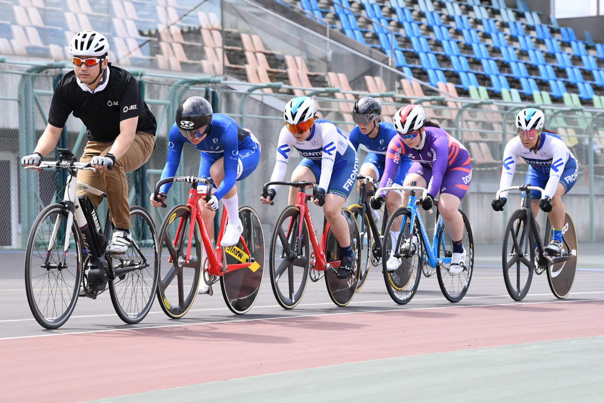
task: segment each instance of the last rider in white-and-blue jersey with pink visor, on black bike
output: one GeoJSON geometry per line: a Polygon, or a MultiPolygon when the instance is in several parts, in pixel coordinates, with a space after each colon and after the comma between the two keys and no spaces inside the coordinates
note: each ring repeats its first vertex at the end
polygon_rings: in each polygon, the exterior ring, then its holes
{"type": "MultiPolygon", "coordinates": [[[[541,187],[545,194],[531,191],[533,214],[539,208],[547,213],[553,236],[545,247],[550,256],[558,256],[562,251],[562,227],[565,208],[562,195],[568,193],[577,181],[579,169],[577,160],[564,141],[554,132],[545,130],[545,116],[535,108],[522,109],[516,118],[518,137],[510,140],[503,153],[503,172],[500,189],[509,187],[516,169],[518,157],[528,163],[524,184],[541,187]]],[[[502,211],[509,192],[501,192],[500,199],[492,202],[493,210],[502,211]]],[[[524,197],[524,195],[522,195],[524,197]]]]}

